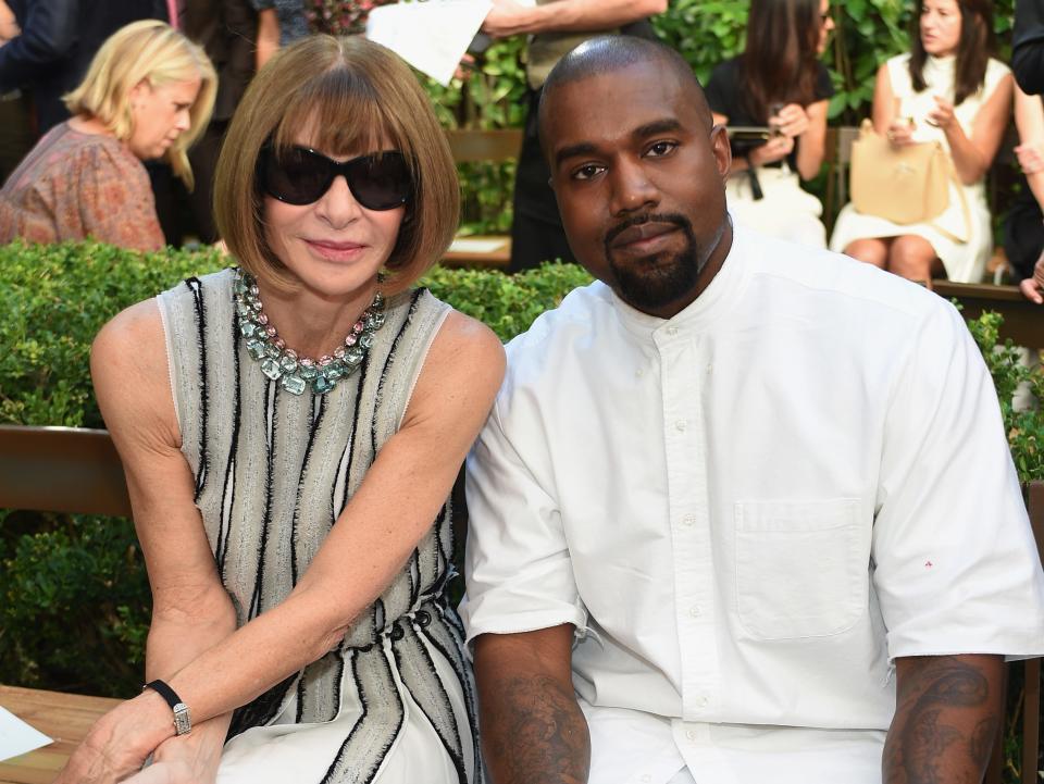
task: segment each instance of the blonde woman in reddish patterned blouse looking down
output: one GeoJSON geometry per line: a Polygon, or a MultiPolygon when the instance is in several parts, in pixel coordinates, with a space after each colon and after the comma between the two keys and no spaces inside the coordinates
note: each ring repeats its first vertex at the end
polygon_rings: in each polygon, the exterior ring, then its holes
{"type": "Polygon", "coordinates": [[[0,190],[0,242],[90,236],[137,250],[163,247],[142,160],[163,158],[192,184],[186,148],[216,91],[202,49],[163,22],[135,22],[98,51],[52,128],[0,190]]]}

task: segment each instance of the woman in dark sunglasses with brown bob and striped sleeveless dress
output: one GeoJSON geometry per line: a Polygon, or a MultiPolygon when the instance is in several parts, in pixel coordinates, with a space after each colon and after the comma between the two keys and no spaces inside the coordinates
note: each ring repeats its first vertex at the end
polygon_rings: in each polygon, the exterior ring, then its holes
{"type": "Polygon", "coordinates": [[[449,498],[504,350],[411,286],[456,224],[446,140],[394,54],[318,37],[262,69],[221,154],[240,266],[91,351],[153,610],[145,690],[59,784],[478,782],[449,498]]]}

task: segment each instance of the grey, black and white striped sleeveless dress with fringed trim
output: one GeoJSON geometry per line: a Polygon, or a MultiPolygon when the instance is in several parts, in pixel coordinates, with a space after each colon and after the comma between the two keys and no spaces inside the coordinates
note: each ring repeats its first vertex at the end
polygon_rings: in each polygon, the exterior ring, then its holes
{"type": "MultiPolygon", "coordinates": [[[[283,601],[399,428],[449,307],[390,297],[360,370],[294,396],[239,337],[231,270],[158,298],[182,452],[238,625],[283,601]]],[[[219,784],[481,781],[447,500],[344,642],[235,711],[219,784]]],[[[345,569],[351,569],[349,559],[345,569]]]]}

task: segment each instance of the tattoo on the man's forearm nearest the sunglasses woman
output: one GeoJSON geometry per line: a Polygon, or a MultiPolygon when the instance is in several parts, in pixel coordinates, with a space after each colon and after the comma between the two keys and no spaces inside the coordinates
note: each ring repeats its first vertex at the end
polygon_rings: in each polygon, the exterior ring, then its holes
{"type": "Polygon", "coordinates": [[[576,698],[546,675],[513,677],[483,700],[482,738],[496,784],[584,784],[587,722],[576,698]]]}

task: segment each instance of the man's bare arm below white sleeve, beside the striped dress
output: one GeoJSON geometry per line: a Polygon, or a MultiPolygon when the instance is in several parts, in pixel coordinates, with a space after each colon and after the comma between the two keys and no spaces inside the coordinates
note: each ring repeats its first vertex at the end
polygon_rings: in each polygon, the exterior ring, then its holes
{"type": "Polygon", "coordinates": [[[573,693],[572,624],[475,639],[478,737],[492,784],[585,784],[591,737],[573,693]]]}

